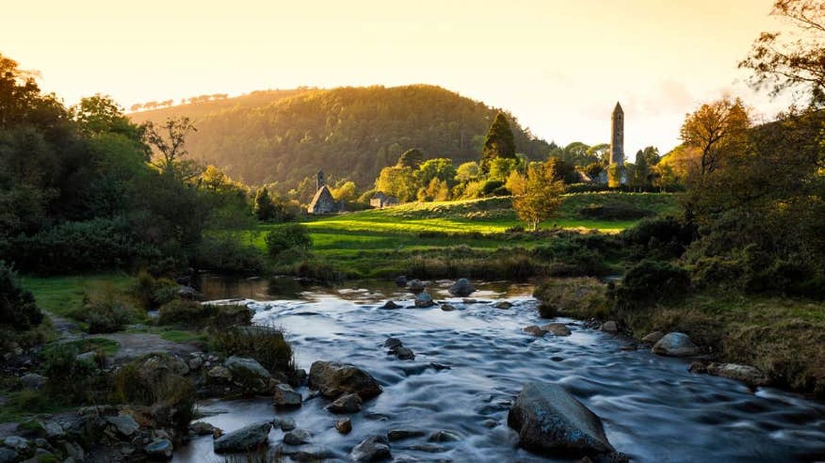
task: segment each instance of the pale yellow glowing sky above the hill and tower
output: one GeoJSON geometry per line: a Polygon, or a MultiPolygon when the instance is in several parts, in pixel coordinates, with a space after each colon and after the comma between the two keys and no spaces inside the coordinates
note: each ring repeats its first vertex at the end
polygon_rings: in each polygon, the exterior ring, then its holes
{"type": "Polygon", "coordinates": [[[771,3],[29,0],[3,4],[0,53],[67,104],[434,84],[560,145],[609,142],[620,101],[632,159],[676,146],[686,113],[723,94],[764,118],[781,109],[737,68],[761,31],[783,29],[771,3]]]}

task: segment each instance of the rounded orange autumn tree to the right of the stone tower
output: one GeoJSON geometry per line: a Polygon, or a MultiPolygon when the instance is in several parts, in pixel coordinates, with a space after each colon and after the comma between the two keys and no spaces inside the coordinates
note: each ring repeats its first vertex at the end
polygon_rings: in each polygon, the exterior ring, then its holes
{"type": "Polygon", "coordinates": [[[724,97],[687,115],[681,126],[681,139],[687,146],[700,150],[702,178],[719,168],[725,156],[742,151],[749,126],[747,110],[738,98],[724,97]]]}

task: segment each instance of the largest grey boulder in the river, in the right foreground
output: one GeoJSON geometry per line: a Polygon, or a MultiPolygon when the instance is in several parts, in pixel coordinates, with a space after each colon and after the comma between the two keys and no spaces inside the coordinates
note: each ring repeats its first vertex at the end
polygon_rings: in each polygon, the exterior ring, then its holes
{"type": "Polygon", "coordinates": [[[507,415],[519,445],[547,456],[597,456],[615,451],[601,419],[562,386],[529,382],[507,415]]]}

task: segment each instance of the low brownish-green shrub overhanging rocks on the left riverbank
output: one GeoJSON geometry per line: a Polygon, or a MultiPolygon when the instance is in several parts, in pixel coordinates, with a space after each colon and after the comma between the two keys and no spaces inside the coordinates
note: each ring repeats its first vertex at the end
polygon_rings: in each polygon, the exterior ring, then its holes
{"type": "Polygon", "coordinates": [[[283,330],[266,326],[238,326],[218,330],[212,336],[215,348],[227,356],[254,358],[271,373],[295,373],[292,346],[284,339],[283,330]]]}

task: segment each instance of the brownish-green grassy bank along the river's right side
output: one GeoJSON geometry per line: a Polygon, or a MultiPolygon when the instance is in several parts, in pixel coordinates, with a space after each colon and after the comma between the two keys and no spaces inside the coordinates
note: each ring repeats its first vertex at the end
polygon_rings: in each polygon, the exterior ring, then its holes
{"type": "Polygon", "coordinates": [[[775,386],[825,397],[825,302],[696,292],[620,312],[606,291],[592,278],[573,278],[550,280],[535,295],[558,315],[617,320],[636,339],[656,330],[686,333],[718,361],[758,367],[775,386]]]}

